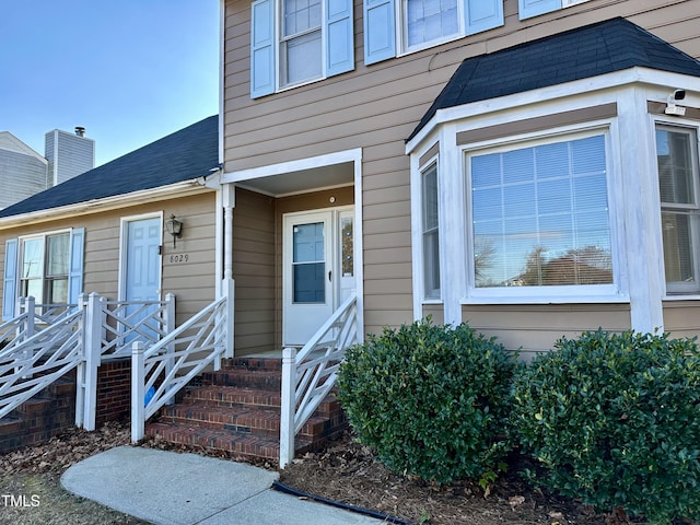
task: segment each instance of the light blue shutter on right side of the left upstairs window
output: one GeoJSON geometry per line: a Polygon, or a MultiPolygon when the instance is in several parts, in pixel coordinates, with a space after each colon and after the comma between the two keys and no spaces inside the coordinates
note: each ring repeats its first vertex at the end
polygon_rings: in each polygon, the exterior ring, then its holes
{"type": "Polygon", "coordinates": [[[326,1],[326,75],[354,69],[352,0],[326,1]]]}

